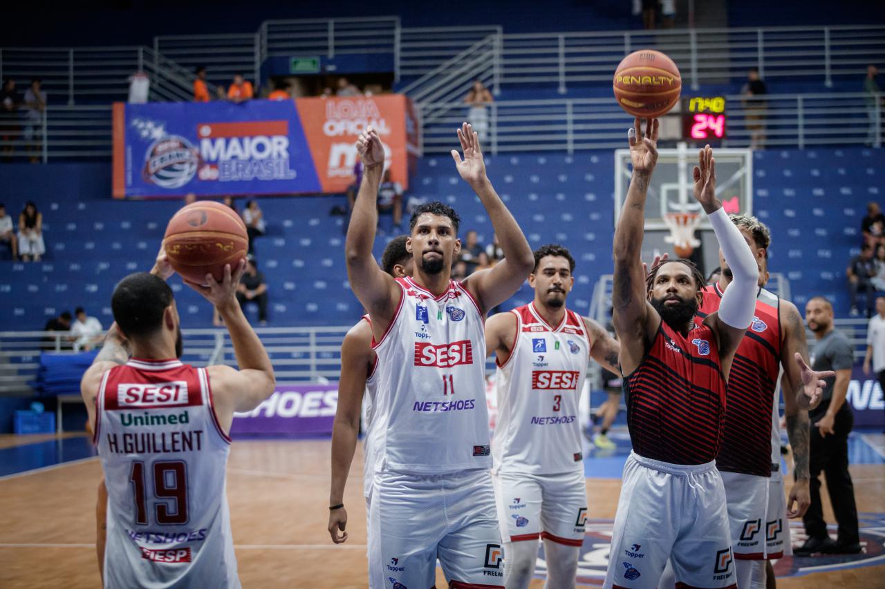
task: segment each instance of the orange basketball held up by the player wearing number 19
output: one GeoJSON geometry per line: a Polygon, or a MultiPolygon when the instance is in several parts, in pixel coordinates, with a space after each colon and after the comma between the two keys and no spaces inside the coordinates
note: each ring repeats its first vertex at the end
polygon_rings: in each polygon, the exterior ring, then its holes
{"type": "Polygon", "coordinates": [[[203,285],[209,273],[219,282],[224,279],[225,264],[230,264],[233,272],[249,249],[242,218],[235,210],[210,201],[190,203],[175,213],[164,240],[175,272],[203,285]]]}

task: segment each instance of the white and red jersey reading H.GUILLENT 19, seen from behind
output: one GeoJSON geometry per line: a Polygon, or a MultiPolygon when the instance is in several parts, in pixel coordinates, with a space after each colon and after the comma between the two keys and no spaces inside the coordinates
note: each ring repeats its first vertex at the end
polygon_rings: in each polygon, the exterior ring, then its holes
{"type": "Polygon", "coordinates": [[[95,440],[108,491],[105,587],[240,587],[230,439],[206,371],[133,359],[104,373],[95,440]]]}

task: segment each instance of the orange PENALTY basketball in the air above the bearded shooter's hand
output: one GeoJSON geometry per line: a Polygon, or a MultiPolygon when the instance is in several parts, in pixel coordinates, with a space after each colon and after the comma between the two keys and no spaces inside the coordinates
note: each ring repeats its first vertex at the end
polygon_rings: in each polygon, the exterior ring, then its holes
{"type": "Polygon", "coordinates": [[[679,68],[660,51],[634,51],[614,73],[614,97],[634,117],[654,119],[666,114],[679,100],[681,89],[679,68]]]}

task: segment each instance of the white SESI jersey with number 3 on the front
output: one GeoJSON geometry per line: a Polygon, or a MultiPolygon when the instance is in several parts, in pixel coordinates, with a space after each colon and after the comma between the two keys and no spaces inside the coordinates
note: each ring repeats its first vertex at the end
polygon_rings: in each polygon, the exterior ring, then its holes
{"type": "Polygon", "coordinates": [[[583,468],[578,400],[590,342],[583,319],[566,310],[547,325],[535,303],[511,311],[516,340],[496,375],[496,472],[553,474],[583,468]]]}

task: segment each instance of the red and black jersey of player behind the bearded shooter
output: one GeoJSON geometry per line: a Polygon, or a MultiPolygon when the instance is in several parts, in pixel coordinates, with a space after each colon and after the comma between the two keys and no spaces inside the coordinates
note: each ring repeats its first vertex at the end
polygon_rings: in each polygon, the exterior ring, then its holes
{"type": "MultiPolygon", "coordinates": [[[[719,285],[704,288],[700,320],[719,309],[719,285]]],[[[759,288],[753,322],[728,373],[728,410],[716,466],[719,470],[770,477],[772,404],[781,370],[781,314],[777,295],[759,288]]]]}

